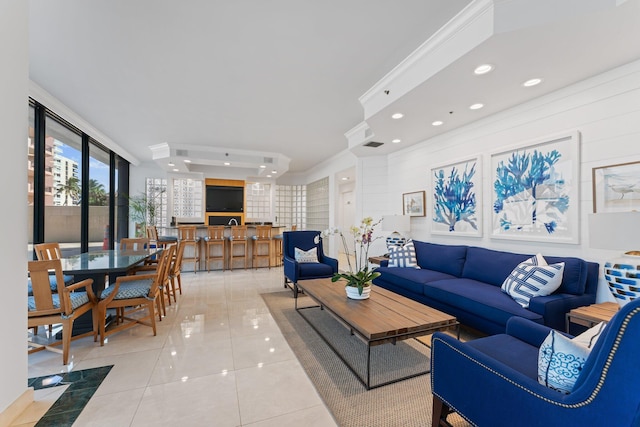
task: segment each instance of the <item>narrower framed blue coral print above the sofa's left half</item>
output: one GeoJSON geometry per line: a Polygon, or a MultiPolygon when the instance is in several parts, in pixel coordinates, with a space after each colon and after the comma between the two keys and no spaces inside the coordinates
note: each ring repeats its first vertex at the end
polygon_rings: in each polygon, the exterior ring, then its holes
{"type": "Polygon", "coordinates": [[[482,236],[480,157],[431,169],[431,232],[482,236]]]}

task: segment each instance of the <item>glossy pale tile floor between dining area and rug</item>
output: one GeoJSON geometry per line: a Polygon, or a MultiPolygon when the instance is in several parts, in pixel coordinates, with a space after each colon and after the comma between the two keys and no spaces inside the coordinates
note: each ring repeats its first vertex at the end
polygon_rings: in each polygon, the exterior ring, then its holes
{"type": "Polygon", "coordinates": [[[67,377],[109,365],[86,406],[75,408],[81,412],[73,426],[336,425],[260,297],[284,290],[281,267],[182,277],[183,295],[168,307],[157,336],[136,326],[104,347],[92,338],[73,341],[67,367],[57,353],[29,355],[29,378],[57,374],[65,385],[36,390],[13,426],[40,419],[39,426],[71,425],[51,416],[60,396],[69,400],[74,383],[67,377]]]}

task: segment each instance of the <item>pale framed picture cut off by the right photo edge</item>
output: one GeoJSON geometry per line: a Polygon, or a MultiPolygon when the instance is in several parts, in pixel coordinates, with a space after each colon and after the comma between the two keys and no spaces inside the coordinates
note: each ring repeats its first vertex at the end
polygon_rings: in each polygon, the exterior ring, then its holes
{"type": "Polygon", "coordinates": [[[591,182],[594,213],[640,210],[640,162],[593,168],[591,182]]]}

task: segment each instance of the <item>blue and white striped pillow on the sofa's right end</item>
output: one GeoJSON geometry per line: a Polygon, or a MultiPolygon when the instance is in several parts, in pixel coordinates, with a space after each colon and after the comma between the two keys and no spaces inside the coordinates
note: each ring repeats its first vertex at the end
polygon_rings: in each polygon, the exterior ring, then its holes
{"type": "Polygon", "coordinates": [[[537,254],[518,264],[502,283],[502,291],[524,308],[529,307],[533,297],[552,294],[562,284],[564,262],[547,265],[544,257],[537,254]]]}

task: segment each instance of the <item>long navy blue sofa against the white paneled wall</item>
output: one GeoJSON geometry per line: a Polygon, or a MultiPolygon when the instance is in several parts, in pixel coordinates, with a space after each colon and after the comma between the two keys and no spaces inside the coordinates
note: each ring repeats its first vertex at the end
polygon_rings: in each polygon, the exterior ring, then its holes
{"type": "Polygon", "coordinates": [[[565,263],[562,284],[553,294],[532,298],[529,308],[523,308],[500,286],[514,267],[533,255],[413,243],[420,268],[388,267],[383,261],[373,283],[456,316],[460,323],[489,335],[504,333],[513,316],[564,330],[567,312],[596,300],[597,263],[545,255],[549,264],[565,263]]]}

